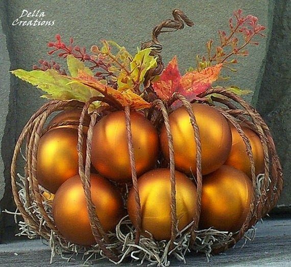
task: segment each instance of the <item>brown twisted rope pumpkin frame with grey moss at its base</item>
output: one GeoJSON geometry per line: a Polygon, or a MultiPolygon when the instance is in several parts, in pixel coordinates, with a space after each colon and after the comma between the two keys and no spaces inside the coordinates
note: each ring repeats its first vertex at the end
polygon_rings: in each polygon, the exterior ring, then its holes
{"type": "MultiPolygon", "coordinates": [[[[170,102],[180,101],[181,105],[186,108],[189,113],[190,121],[195,130],[195,139],[197,146],[197,205],[198,212],[193,221],[182,232],[177,230],[177,214],[171,209],[172,219],[172,236],[169,241],[155,241],[149,237],[140,235],[140,203],[136,203],[137,212],[139,214],[139,227],[135,229],[131,224],[128,216],[120,220],[116,226],[116,231],[105,233],[100,225],[99,218],[94,212],[90,193],[90,143],[93,134],[93,127],[96,120],[99,120],[108,110],[95,110],[90,114],[90,125],[87,136],[83,136],[83,120],[89,105],[94,99],[88,103],[80,103],[78,101],[50,101],[43,105],[29,120],[22,133],[17,140],[12,166],[12,191],[15,203],[17,205],[17,213],[20,212],[24,222],[19,222],[20,234],[28,235],[30,238],[41,236],[50,242],[52,255],[55,253],[63,254],[65,252],[84,254],[84,259],[94,259],[104,256],[113,262],[122,262],[126,257],[132,257],[138,262],[147,260],[161,265],[167,265],[169,255],[173,255],[180,260],[185,260],[187,252],[192,253],[220,253],[232,247],[238,240],[245,237],[252,238],[252,227],[266,213],[268,213],[277,203],[282,190],[282,170],[276,153],[274,141],[270,134],[268,126],[264,120],[256,112],[256,110],[241,99],[236,94],[229,92],[223,88],[213,88],[208,90],[201,97],[208,94],[216,93],[223,95],[224,98],[215,98],[213,103],[219,103],[219,107],[211,104],[213,108],[219,111],[230,124],[232,124],[240,136],[243,138],[248,156],[251,162],[252,184],[254,194],[252,196],[251,207],[247,219],[241,229],[235,233],[217,231],[215,229],[197,230],[200,216],[201,192],[202,192],[202,174],[201,174],[201,143],[199,137],[198,126],[195,116],[193,115],[191,104],[179,94],[174,94],[170,102]],[[235,103],[235,104],[233,104],[235,103]],[[87,155],[82,154],[82,149],[78,149],[79,153],[79,174],[81,176],[83,189],[85,192],[87,209],[90,217],[92,233],[96,240],[96,245],[83,247],[71,244],[66,241],[59,233],[55,226],[52,216],[52,201],[47,200],[43,196],[44,189],[38,184],[36,178],[37,149],[40,137],[48,130],[44,127],[46,119],[50,114],[56,111],[65,110],[67,108],[82,109],[78,127],[78,147],[82,148],[83,142],[87,143],[87,155]],[[249,139],[244,134],[239,123],[247,124],[260,138],[264,152],[264,173],[255,176],[254,160],[249,139]],[[22,148],[22,150],[21,150],[22,148]],[[89,148],[89,149],[88,149],[89,148]],[[25,151],[25,153],[21,153],[25,151]],[[83,158],[85,157],[85,164],[83,158]],[[22,160],[22,162],[21,162],[22,160]],[[18,166],[25,167],[23,172],[17,173],[18,166]],[[249,230],[249,231],[248,231],[249,230]],[[248,231],[248,232],[247,232],[248,231]]],[[[210,104],[209,104],[210,105],[210,104]]],[[[130,127],[130,109],[125,108],[127,123],[127,138],[130,152],[130,160],[132,166],[132,186],[135,188],[135,201],[139,200],[137,190],[137,177],[134,166],[133,141],[130,127]]],[[[153,102],[152,108],[144,111],[154,126],[160,127],[165,125],[168,143],[170,148],[170,177],[171,191],[175,192],[175,162],[173,153],[173,140],[171,137],[171,128],[169,127],[168,111],[160,100],[153,102]],[[171,149],[172,148],[172,149],[171,149]],[[171,153],[172,151],[172,153],[171,153]]],[[[78,123],[65,122],[58,125],[76,125],[78,123]]],[[[159,167],[159,166],[157,166],[159,167]]],[[[19,170],[18,170],[19,171],[19,170]]],[[[126,198],[125,193],[125,198],[126,198]]],[[[171,206],[176,203],[175,193],[171,194],[171,206]]]]}

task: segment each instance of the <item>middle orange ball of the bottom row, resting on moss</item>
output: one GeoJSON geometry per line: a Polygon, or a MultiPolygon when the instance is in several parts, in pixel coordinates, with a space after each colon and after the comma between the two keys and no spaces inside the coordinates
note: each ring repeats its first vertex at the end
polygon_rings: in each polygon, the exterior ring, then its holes
{"type": "MultiPolygon", "coordinates": [[[[196,186],[184,174],[176,171],[176,210],[178,229],[182,230],[196,214],[196,186]]],[[[171,238],[171,182],[169,169],[154,169],[138,179],[141,205],[141,228],[150,232],[156,240],[171,238]]],[[[136,227],[137,207],[131,188],[127,202],[128,214],[136,227]]]]}

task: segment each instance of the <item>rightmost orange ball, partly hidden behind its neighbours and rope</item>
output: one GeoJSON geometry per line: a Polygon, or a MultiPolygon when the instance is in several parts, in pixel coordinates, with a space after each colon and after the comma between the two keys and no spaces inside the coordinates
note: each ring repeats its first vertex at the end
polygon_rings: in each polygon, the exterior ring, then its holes
{"type": "MultiPolygon", "coordinates": [[[[247,148],[243,141],[243,138],[239,135],[237,130],[234,126],[231,125],[231,133],[232,133],[232,145],[231,150],[228,156],[227,161],[225,162],[226,165],[233,166],[240,171],[247,174],[249,177],[251,175],[251,162],[247,154],[247,148]]],[[[251,148],[254,157],[255,163],[255,175],[263,173],[264,171],[264,151],[261,140],[259,136],[252,131],[250,128],[246,126],[241,127],[249,138],[251,143],[251,148]]]]}

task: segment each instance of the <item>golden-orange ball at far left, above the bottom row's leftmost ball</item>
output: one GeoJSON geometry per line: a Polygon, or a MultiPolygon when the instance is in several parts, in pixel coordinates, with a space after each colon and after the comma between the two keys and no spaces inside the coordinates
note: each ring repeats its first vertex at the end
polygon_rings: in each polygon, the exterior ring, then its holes
{"type": "MultiPolygon", "coordinates": [[[[55,193],[70,177],[78,174],[78,131],[57,127],[39,140],[37,151],[37,180],[48,191],[55,193]]],[[[86,144],[83,143],[83,155],[86,144]]]]}

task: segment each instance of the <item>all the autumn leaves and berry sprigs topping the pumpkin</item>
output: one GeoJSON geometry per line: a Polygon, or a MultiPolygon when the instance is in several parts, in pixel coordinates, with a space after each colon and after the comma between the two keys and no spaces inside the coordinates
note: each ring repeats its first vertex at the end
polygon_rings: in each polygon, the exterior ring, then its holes
{"type": "MultiPolygon", "coordinates": [[[[151,55],[151,48],[138,49],[135,55],[131,55],[124,46],[102,40],[101,45],[93,45],[87,52],[86,47],[76,45],[73,38],[65,43],[59,34],[55,41],[48,42],[48,55],[57,54],[66,59],[67,69],[54,60],[40,60],[40,65],[34,65],[31,71],[16,69],[12,73],[44,91],[42,97],[45,98],[87,102],[92,96],[98,96],[100,101],[94,102],[93,108],[109,103],[114,103],[117,108],[149,108],[151,103],[144,98],[147,95],[144,91],[149,87],[155,95],[153,99],[165,102],[176,92],[190,102],[211,102],[211,95],[201,99],[199,94],[222,78],[223,67],[236,71],[231,65],[238,62],[238,56],[249,54],[247,45],[258,45],[254,37],[264,36],[264,29],[257,17],[243,16],[243,11],[238,9],[229,19],[229,33],[219,31],[220,44],[214,47],[214,41],[209,40],[206,43],[207,55],[197,56],[197,69],[190,68],[181,75],[175,56],[161,75],[151,79],[146,86],[143,85],[144,77],[150,69],[157,67],[157,58],[151,55]]],[[[240,95],[249,92],[237,86],[228,89],[240,95]]]]}

